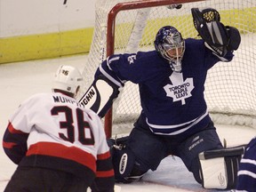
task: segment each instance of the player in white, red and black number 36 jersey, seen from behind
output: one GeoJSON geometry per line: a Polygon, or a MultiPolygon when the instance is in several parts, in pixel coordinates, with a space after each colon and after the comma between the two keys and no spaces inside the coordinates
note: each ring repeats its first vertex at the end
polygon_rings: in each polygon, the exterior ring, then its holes
{"type": "Polygon", "coordinates": [[[114,191],[114,170],[100,117],[76,100],[82,76],[60,66],[52,93],[25,100],[4,132],[4,152],[18,164],[5,192],[114,191]]]}

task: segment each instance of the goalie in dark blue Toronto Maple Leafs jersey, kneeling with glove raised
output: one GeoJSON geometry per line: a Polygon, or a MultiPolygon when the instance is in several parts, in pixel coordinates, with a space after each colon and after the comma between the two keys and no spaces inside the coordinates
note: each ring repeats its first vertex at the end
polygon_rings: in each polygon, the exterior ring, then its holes
{"type": "Polygon", "coordinates": [[[165,26],[156,34],[156,50],[111,55],[96,72],[91,90],[97,94],[89,106],[100,116],[125,82],[140,88],[142,111],[132,132],[108,140],[116,181],[138,180],[172,154],[182,159],[204,188],[236,186],[244,148],[222,146],[207,111],[204,82],[216,63],[233,59],[241,37],[236,28],[220,22],[214,9],[195,8],[192,15],[202,39],[183,39],[177,28],[165,26]]]}

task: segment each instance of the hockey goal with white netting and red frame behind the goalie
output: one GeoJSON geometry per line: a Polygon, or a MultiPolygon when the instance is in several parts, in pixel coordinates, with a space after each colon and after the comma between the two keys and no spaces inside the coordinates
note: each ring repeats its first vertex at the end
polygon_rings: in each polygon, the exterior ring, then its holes
{"type": "MultiPolygon", "coordinates": [[[[210,116],[220,124],[256,125],[255,0],[98,0],[95,6],[94,34],[84,65],[80,96],[92,84],[102,60],[113,53],[155,49],[156,32],[165,25],[177,28],[184,38],[199,38],[191,8],[212,7],[220,12],[224,25],[238,28],[242,42],[231,62],[220,62],[208,71],[204,95],[210,116]],[[173,4],[182,7],[176,9],[173,4]]],[[[107,137],[131,131],[140,116],[138,90],[137,84],[124,85],[112,110],[103,119],[107,137]]]]}

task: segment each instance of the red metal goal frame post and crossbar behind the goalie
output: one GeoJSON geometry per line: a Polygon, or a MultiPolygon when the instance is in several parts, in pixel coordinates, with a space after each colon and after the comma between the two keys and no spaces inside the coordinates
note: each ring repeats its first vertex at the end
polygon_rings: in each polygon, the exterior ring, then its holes
{"type": "MultiPolygon", "coordinates": [[[[186,4],[192,2],[202,2],[205,0],[140,0],[132,1],[126,3],[116,4],[108,12],[108,24],[107,24],[107,47],[106,54],[107,57],[114,54],[115,51],[115,26],[116,26],[116,16],[118,12],[141,9],[141,8],[150,8],[156,6],[172,5],[172,4],[186,4]]],[[[110,138],[112,136],[112,123],[113,122],[113,113],[112,108],[109,108],[108,113],[104,119],[104,129],[106,137],[110,138]]]]}

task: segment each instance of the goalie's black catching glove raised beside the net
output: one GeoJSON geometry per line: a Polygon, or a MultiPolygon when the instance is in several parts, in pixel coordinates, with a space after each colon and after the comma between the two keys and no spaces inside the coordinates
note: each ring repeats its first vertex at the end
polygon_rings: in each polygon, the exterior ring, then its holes
{"type": "Polygon", "coordinates": [[[237,50],[241,36],[237,28],[224,26],[220,22],[220,13],[215,9],[207,8],[200,11],[191,9],[193,21],[199,36],[205,46],[220,57],[225,57],[228,51],[237,50]]]}

